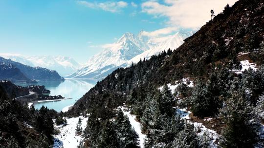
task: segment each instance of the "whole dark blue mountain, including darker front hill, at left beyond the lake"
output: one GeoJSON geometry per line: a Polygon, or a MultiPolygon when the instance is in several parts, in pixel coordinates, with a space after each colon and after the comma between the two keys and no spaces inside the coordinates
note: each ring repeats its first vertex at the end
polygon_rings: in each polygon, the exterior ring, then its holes
{"type": "Polygon", "coordinates": [[[17,80],[64,80],[56,71],[31,67],[0,57],[0,79],[17,80]]]}

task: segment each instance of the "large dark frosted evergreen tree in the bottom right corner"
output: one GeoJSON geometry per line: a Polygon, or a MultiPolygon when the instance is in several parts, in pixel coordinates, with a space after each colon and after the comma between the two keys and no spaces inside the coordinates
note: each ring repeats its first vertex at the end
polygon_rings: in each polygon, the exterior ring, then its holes
{"type": "Polygon", "coordinates": [[[222,145],[227,148],[253,148],[256,142],[256,113],[246,99],[233,92],[221,115],[227,124],[222,145]]]}

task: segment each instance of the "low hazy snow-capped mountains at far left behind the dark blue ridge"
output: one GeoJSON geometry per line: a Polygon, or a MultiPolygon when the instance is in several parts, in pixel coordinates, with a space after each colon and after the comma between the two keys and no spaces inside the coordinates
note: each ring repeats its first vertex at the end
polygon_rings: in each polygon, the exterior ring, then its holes
{"type": "Polygon", "coordinates": [[[63,76],[73,73],[80,67],[79,63],[68,56],[22,56],[18,54],[0,54],[0,56],[32,67],[39,66],[55,70],[63,76]]]}

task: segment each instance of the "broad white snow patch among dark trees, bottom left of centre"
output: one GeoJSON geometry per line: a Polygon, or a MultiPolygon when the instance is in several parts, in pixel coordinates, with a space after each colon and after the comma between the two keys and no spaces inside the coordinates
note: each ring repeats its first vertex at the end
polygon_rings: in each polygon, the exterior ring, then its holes
{"type": "MultiPolygon", "coordinates": [[[[82,119],[82,128],[83,130],[87,126],[88,117],[85,118],[83,116],[79,116],[82,119]]],[[[60,133],[58,135],[53,135],[54,137],[54,145],[53,148],[76,148],[80,140],[82,139],[81,135],[76,135],[76,125],[78,123],[79,117],[76,118],[66,118],[67,125],[59,125],[56,126],[54,124],[54,128],[59,130],[60,133]]]]}

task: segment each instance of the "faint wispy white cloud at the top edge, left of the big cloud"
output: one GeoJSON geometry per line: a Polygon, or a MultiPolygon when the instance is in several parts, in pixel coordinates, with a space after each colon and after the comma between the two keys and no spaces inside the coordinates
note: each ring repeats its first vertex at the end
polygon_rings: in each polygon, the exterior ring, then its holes
{"type": "Polygon", "coordinates": [[[128,6],[128,3],[125,1],[105,1],[105,2],[88,2],[85,0],[77,0],[77,3],[85,5],[86,7],[93,9],[103,9],[112,13],[120,12],[122,8],[128,6]]]}

